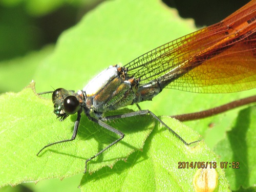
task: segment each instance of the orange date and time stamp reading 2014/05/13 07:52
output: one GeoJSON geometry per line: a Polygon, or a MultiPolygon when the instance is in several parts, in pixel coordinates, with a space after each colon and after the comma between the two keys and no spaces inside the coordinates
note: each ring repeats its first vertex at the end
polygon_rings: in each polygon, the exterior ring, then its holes
{"type": "MultiPolygon", "coordinates": [[[[240,163],[238,161],[236,162],[227,162],[227,161],[221,161],[219,164],[220,168],[240,168],[240,163]]],[[[205,162],[205,161],[191,161],[191,162],[185,162],[185,161],[179,161],[178,162],[178,168],[217,168],[218,163],[216,161],[212,162],[205,162]]]]}

